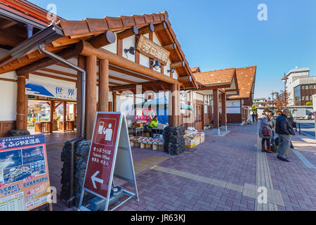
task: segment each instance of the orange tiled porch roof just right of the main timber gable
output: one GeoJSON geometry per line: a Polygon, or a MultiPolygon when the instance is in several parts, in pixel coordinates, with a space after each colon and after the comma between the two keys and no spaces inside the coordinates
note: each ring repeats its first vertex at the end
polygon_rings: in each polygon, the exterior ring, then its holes
{"type": "Polygon", "coordinates": [[[218,86],[223,84],[231,84],[235,73],[235,68],[225,70],[213,70],[209,72],[197,72],[193,76],[197,82],[204,86],[218,86]]]}

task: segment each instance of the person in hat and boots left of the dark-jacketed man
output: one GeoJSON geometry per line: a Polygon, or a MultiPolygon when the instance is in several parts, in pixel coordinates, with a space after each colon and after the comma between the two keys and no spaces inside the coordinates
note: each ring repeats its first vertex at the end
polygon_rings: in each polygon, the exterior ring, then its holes
{"type": "Polygon", "coordinates": [[[262,149],[261,152],[273,153],[271,150],[270,139],[272,139],[272,130],[271,130],[271,122],[268,120],[268,115],[263,115],[263,118],[260,122],[259,127],[259,136],[262,141],[262,149]],[[265,150],[265,143],[267,143],[267,150],[265,150]]]}

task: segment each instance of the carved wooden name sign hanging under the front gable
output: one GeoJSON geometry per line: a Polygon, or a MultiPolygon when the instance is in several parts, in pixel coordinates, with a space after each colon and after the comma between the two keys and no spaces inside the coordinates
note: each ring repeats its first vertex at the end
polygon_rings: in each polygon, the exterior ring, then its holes
{"type": "Polygon", "coordinates": [[[154,43],[147,37],[140,35],[136,49],[150,58],[157,58],[160,63],[166,65],[170,56],[170,52],[164,49],[162,46],[154,43]]]}

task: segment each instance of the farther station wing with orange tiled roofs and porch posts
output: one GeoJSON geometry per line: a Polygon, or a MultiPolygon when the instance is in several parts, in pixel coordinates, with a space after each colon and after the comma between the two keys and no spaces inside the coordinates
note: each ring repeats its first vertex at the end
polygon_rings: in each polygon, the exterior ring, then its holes
{"type": "Polygon", "coordinates": [[[191,70],[201,86],[199,90],[193,91],[197,105],[196,129],[213,124],[214,134],[219,134],[219,119],[224,131],[227,130],[228,124],[246,123],[249,107],[254,102],[256,66],[209,72],[201,72],[199,67],[191,70]]]}

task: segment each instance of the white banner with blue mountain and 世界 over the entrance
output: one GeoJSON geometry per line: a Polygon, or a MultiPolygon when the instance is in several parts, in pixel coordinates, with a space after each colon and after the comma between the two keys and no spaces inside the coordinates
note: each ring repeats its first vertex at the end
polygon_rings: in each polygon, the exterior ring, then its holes
{"type": "Polygon", "coordinates": [[[77,89],[74,87],[34,82],[29,79],[26,80],[25,94],[77,101],[77,89]]]}

